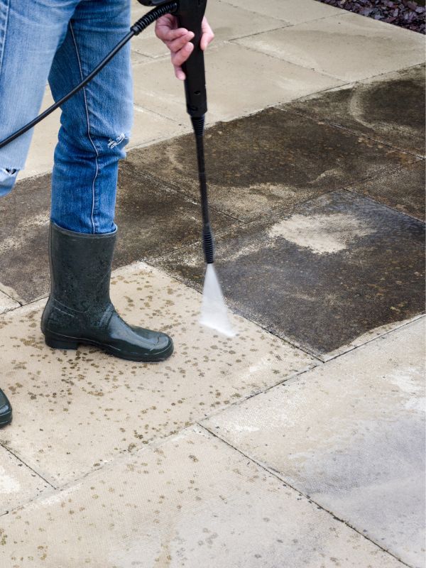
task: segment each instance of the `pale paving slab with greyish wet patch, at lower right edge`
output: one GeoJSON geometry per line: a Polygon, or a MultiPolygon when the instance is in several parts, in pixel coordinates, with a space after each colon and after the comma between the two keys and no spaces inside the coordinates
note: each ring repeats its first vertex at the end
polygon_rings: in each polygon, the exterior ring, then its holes
{"type": "Polygon", "coordinates": [[[425,320],[204,422],[413,567],[425,565],[425,320]]]}

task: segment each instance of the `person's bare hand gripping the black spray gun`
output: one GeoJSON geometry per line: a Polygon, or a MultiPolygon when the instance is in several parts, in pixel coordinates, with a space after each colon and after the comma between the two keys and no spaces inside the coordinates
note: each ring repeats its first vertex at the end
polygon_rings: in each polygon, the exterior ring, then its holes
{"type": "MultiPolygon", "coordinates": [[[[172,56],[175,75],[181,81],[185,80],[185,73],[182,71],[182,63],[190,57],[194,44],[191,43],[194,33],[185,28],[178,28],[178,18],[170,13],[161,16],[155,22],[155,35],[168,46],[172,56]]],[[[202,19],[202,37],[200,47],[207,49],[207,45],[213,40],[214,33],[209,26],[207,18],[202,19]]]]}

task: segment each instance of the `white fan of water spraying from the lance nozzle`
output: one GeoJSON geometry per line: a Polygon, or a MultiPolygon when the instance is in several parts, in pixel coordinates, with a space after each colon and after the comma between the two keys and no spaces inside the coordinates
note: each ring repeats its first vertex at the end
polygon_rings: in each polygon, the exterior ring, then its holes
{"type": "Polygon", "coordinates": [[[224,295],[212,264],[207,264],[204,278],[200,324],[211,327],[226,337],[236,335],[229,322],[224,295]]]}

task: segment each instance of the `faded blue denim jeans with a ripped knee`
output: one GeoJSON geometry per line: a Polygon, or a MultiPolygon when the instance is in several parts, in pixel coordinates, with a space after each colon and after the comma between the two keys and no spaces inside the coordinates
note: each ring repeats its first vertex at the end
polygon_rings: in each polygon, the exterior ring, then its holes
{"type": "MultiPolygon", "coordinates": [[[[129,32],[130,1],[0,0],[0,140],[38,114],[47,82],[60,99],[129,32]]],[[[116,230],[118,160],[129,141],[132,94],[127,44],[62,105],[51,209],[59,226],[116,230]]],[[[31,132],[0,150],[0,197],[11,191],[30,143],[31,132]]]]}

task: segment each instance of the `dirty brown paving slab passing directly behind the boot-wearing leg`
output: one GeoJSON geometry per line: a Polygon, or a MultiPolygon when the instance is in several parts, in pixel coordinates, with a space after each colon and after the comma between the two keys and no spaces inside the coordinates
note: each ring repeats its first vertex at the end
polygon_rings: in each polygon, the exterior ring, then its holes
{"type": "MultiPolygon", "coordinates": [[[[119,168],[114,267],[200,240],[199,204],[145,175],[137,154],[130,152],[119,168]]],[[[10,288],[6,293],[24,303],[48,295],[50,175],[18,182],[1,199],[0,214],[0,281],[10,288]]],[[[219,212],[212,212],[212,221],[218,230],[235,222],[219,212]]],[[[5,299],[0,302],[15,307],[5,299]]]]}

